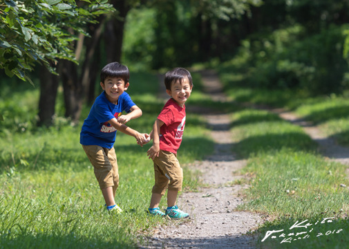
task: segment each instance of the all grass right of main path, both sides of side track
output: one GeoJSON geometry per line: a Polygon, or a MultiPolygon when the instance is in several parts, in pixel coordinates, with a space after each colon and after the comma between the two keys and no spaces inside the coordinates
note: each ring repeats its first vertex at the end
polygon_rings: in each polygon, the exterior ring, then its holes
{"type": "MultiPolygon", "coordinates": [[[[255,89],[243,84],[243,73],[232,72],[234,63],[218,68],[227,94],[237,103],[294,111],[341,145],[349,145],[349,102],[344,95],[310,98],[294,90],[255,89]]],[[[259,212],[268,220],[254,231],[258,248],[343,248],[349,242],[349,190],[341,187],[349,185],[346,165],[323,158],[301,127],[269,111],[236,109],[232,133],[234,152],[248,162],[240,173],[252,176],[246,202],[237,210],[259,212]],[[326,218],[332,222],[321,223],[326,218]],[[306,220],[312,225],[290,229],[306,220]],[[262,241],[273,230],[283,231],[262,241]]]]}

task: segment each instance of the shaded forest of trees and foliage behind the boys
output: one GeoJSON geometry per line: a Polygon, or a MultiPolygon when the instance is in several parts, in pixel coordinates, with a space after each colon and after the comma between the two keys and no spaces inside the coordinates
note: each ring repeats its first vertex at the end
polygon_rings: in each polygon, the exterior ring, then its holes
{"type": "MultiPolygon", "coordinates": [[[[236,84],[345,94],[348,8],[326,0],[1,0],[1,85],[25,84],[19,77],[40,88],[28,127],[50,126],[56,116],[77,123],[95,98],[100,68],[113,61],[159,71],[235,57],[243,73],[236,84]]],[[[1,116],[1,126],[12,127],[15,117],[1,116]]]]}

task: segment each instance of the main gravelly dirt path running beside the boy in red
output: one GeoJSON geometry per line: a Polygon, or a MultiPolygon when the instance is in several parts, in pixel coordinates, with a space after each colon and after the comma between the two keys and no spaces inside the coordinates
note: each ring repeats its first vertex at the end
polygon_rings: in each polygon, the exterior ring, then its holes
{"type": "MultiPolygon", "coordinates": [[[[202,75],[205,91],[214,100],[227,101],[222,93],[218,77],[212,72],[202,75]]],[[[187,107],[187,113],[202,111],[187,107]]],[[[205,113],[207,110],[204,110],[205,113]]],[[[245,166],[232,154],[232,134],[229,131],[229,116],[225,113],[205,115],[211,127],[211,136],[216,143],[214,153],[202,162],[191,165],[191,169],[202,172],[202,181],[210,187],[200,192],[182,193],[178,205],[191,214],[186,221],[170,221],[169,226],[159,227],[153,237],[142,248],[254,248],[256,238],[245,235],[258,227],[263,219],[258,214],[236,212],[242,203],[240,192],[247,185],[231,183],[242,176],[234,172],[245,166]],[[230,184],[231,185],[231,184],[230,184]]]]}

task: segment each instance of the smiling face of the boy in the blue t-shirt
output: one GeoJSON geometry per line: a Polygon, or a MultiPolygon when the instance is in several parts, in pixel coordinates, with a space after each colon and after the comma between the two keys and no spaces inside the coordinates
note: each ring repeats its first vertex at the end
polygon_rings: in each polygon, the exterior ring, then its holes
{"type": "Polygon", "coordinates": [[[106,98],[113,104],[117,104],[120,95],[129,88],[129,82],[124,82],[120,77],[106,77],[104,82],[100,83],[102,89],[106,92],[106,98]]]}

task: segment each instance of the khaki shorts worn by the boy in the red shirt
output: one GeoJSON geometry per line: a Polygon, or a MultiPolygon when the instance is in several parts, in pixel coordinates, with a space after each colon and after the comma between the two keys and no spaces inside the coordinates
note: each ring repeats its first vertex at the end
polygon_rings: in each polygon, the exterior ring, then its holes
{"type": "Polygon", "coordinates": [[[153,159],[155,185],[152,192],[162,194],[169,190],[182,190],[183,170],[177,155],[169,151],[160,150],[159,156],[153,159]]]}

